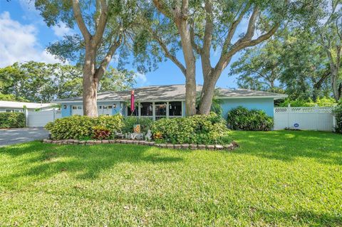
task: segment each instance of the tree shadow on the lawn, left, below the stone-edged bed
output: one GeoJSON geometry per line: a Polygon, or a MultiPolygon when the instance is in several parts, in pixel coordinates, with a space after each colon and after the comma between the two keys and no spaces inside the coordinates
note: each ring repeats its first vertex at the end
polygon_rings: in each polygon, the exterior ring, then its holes
{"type": "Polygon", "coordinates": [[[61,172],[74,174],[78,179],[95,179],[101,172],[121,163],[182,161],[175,153],[130,144],[76,146],[30,142],[6,147],[1,153],[18,159],[16,163],[20,165],[14,174],[6,176],[8,183],[21,177],[38,181],[61,172]]]}

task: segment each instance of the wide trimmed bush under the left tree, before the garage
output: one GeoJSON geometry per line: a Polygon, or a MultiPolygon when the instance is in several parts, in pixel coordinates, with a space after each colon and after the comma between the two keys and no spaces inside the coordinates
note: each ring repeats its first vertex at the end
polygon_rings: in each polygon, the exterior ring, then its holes
{"type": "Polygon", "coordinates": [[[49,122],[46,129],[53,139],[83,139],[94,136],[93,127],[103,127],[110,134],[118,132],[123,127],[123,117],[120,115],[87,117],[73,115],[49,122]]]}

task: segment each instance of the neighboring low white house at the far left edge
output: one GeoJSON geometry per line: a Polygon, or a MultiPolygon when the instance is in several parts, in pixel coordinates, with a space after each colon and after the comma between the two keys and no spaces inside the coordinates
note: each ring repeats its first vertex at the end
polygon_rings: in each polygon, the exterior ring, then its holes
{"type": "Polygon", "coordinates": [[[24,112],[35,110],[52,110],[56,103],[36,103],[36,102],[11,102],[0,100],[0,112],[24,112]]]}

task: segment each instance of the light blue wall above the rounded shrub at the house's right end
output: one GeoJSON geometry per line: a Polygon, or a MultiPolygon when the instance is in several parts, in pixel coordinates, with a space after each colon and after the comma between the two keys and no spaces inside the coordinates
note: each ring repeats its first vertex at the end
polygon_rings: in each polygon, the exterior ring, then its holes
{"type": "Polygon", "coordinates": [[[222,103],[222,115],[224,119],[227,119],[229,110],[232,110],[238,106],[246,107],[249,110],[257,109],[264,110],[266,115],[273,117],[274,113],[274,99],[273,97],[262,98],[228,98],[224,99],[222,103]]]}

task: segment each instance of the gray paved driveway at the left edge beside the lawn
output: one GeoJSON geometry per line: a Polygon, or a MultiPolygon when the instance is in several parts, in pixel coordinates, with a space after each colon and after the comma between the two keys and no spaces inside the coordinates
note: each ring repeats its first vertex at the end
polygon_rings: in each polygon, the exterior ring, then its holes
{"type": "Polygon", "coordinates": [[[48,138],[48,131],[44,130],[43,127],[0,130],[0,147],[46,138],[48,138]]]}

